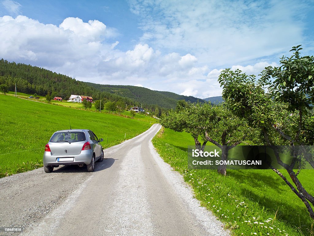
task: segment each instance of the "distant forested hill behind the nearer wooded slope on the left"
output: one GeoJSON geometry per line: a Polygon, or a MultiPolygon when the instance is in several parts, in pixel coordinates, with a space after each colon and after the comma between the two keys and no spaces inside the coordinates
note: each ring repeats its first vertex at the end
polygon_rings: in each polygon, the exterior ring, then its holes
{"type": "Polygon", "coordinates": [[[102,92],[113,93],[126,98],[131,98],[138,103],[157,104],[167,109],[175,108],[177,101],[182,99],[191,103],[197,102],[198,100],[200,102],[205,102],[200,98],[194,98],[192,96],[187,97],[176,93],[155,91],[131,85],[86,84],[102,92]]]}

